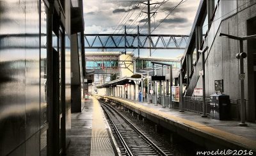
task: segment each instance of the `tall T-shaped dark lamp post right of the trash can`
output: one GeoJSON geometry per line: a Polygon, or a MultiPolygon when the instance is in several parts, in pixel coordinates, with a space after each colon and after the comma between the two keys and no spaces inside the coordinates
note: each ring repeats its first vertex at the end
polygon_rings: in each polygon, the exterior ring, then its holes
{"type": "Polygon", "coordinates": [[[245,126],[247,126],[247,124],[245,123],[245,103],[244,103],[244,79],[245,79],[244,58],[246,58],[247,55],[245,52],[243,52],[243,41],[256,38],[256,35],[238,37],[238,36],[220,33],[219,36],[231,38],[234,40],[239,40],[240,52],[238,54],[236,54],[236,58],[239,59],[239,62],[240,62],[239,79],[240,79],[240,95],[241,95],[241,113],[240,113],[241,114],[241,123],[239,123],[239,126],[245,127],[245,126]]]}

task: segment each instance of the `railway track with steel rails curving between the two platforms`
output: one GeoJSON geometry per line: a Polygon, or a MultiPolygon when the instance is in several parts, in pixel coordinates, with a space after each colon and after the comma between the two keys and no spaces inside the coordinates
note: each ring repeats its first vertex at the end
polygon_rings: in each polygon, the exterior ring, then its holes
{"type": "Polygon", "coordinates": [[[145,136],[114,107],[100,101],[122,155],[172,155],[161,144],[145,136]]]}

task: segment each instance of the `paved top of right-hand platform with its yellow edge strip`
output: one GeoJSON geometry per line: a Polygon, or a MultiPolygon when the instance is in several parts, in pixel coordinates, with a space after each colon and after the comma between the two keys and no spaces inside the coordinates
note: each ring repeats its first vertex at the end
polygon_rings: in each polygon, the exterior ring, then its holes
{"type": "Polygon", "coordinates": [[[214,120],[210,116],[202,118],[201,114],[190,111],[179,112],[177,109],[170,109],[162,105],[148,104],[147,102],[138,102],[120,97],[104,97],[162,118],[164,121],[183,127],[191,133],[209,139],[223,140],[256,152],[256,123],[248,123],[248,127],[239,127],[239,121],[214,120]]]}

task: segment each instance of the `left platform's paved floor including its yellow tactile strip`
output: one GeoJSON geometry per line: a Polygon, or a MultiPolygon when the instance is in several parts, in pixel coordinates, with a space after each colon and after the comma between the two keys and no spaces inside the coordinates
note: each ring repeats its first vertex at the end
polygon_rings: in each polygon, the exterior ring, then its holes
{"type": "Polygon", "coordinates": [[[81,113],[72,113],[67,155],[118,155],[108,123],[97,99],[83,102],[81,113]]]}

